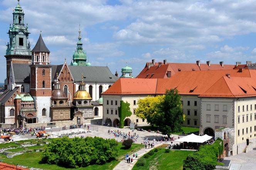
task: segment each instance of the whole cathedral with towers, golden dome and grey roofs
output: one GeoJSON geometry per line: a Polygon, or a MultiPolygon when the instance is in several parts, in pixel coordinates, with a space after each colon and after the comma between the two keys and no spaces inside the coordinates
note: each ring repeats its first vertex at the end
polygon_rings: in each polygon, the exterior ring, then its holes
{"type": "Polygon", "coordinates": [[[40,33],[31,50],[28,25],[18,1],[13,24],[8,30],[6,50],[7,77],[0,96],[0,123],[26,126],[30,123],[73,121],[100,123],[103,98],[118,80],[108,67],[92,66],[81,42],[81,31],[72,62],[51,64],[50,50],[40,33]]]}

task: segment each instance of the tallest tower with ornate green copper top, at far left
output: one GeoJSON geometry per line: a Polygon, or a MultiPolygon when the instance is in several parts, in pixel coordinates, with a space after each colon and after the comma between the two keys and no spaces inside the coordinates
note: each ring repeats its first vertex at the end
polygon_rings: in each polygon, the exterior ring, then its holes
{"type": "Polygon", "coordinates": [[[31,52],[29,42],[28,25],[24,24],[24,11],[20,7],[20,0],[16,8],[13,10],[13,23],[10,24],[8,35],[9,42],[6,44],[6,64],[7,64],[7,80],[5,84],[9,82],[10,76],[10,64],[12,63],[31,63],[31,52]]]}

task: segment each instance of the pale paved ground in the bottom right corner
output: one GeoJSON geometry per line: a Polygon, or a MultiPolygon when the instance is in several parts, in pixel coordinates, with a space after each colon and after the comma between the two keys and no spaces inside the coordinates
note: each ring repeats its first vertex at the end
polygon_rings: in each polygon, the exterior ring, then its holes
{"type": "Polygon", "coordinates": [[[256,150],[248,153],[240,153],[238,155],[225,157],[231,160],[230,170],[255,170],[256,169],[256,150]]]}

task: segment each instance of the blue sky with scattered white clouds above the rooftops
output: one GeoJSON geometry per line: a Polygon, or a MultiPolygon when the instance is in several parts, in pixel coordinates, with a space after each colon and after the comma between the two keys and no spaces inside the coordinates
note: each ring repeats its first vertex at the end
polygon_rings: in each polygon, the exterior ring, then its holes
{"type": "MultiPolygon", "coordinates": [[[[17,0],[0,0],[0,82],[6,78],[5,43],[17,0]]],[[[42,31],[52,64],[71,62],[79,23],[93,66],[133,75],[146,62],[235,64],[256,62],[254,0],[20,0],[33,48],[42,31]]]]}

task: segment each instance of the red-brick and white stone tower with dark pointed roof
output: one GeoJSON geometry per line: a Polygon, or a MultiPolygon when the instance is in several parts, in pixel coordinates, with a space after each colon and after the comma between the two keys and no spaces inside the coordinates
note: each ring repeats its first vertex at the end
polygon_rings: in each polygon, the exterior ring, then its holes
{"type": "Polygon", "coordinates": [[[30,93],[35,99],[38,122],[50,122],[52,66],[50,65],[50,51],[46,47],[41,33],[31,52],[30,93]]]}

